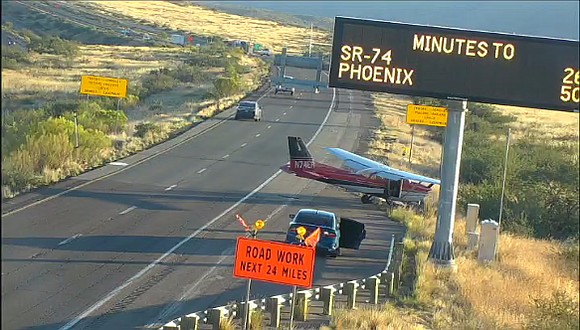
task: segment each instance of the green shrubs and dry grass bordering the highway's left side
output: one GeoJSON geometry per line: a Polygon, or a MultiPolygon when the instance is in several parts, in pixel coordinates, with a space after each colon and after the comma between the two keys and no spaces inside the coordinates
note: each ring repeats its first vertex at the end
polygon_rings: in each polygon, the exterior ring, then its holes
{"type": "Polygon", "coordinates": [[[256,90],[269,72],[217,39],[201,48],[88,46],[28,33],[28,51],[2,50],[3,198],[161,142],[256,90]],[[117,99],[79,95],[82,75],[129,79],[120,111],[117,99]]]}

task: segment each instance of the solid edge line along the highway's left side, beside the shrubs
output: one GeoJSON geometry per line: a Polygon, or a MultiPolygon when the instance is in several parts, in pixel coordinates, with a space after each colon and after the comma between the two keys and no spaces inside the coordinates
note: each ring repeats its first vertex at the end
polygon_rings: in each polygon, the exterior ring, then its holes
{"type": "MultiPolygon", "coordinates": [[[[260,101],[261,99],[263,99],[264,97],[266,97],[268,94],[270,94],[270,92],[271,92],[273,89],[274,89],[274,87],[270,87],[270,88],[268,88],[268,89],[266,90],[266,92],[264,93],[264,95],[260,96],[260,97],[257,99],[257,101],[260,101]]],[[[106,179],[106,178],[110,178],[110,177],[112,177],[113,175],[119,174],[119,173],[121,173],[121,172],[124,172],[124,171],[126,171],[126,170],[130,169],[130,168],[133,168],[133,167],[135,167],[135,166],[137,166],[137,165],[140,165],[140,164],[142,164],[142,163],[144,163],[144,162],[146,162],[146,161],[148,161],[148,160],[151,160],[151,159],[153,159],[153,158],[155,158],[155,157],[157,157],[157,156],[163,155],[164,153],[166,153],[166,152],[168,152],[168,151],[171,151],[171,150],[173,150],[173,149],[175,149],[175,148],[177,148],[177,147],[181,146],[182,144],[184,144],[184,143],[187,143],[187,142],[191,141],[192,139],[194,139],[194,138],[196,138],[196,137],[198,137],[198,136],[201,136],[201,135],[203,135],[203,134],[205,134],[205,133],[207,133],[207,132],[209,132],[209,131],[213,130],[214,128],[218,127],[219,125],[221,125],[221,124],[223,124],[223,123],[227,122],[227,120],[226,120],[226,119],[228,119],[228,118],[231,118],[231,117],[233,117],[233,116],[234,116],[234,114],[232,114],[232,115],[230,115],[229,117],[225,118],[224,120],[222,120],[222,121],[218,122],[218,123],[217,123],[217,124],[215,124],[214,126],[210,126],[210,127],[208,127],[208,128],[205,130],[205,131],[201,131],[201,132],[199,132],[199,133],[197,133],[197,134],[194,134],[194,135],[190,136],[189,138],[186,138],[185,140],[183,140],[183,141],[181,141],[181,142],[178,142],[178,143],[176,143],[176,144],[174,144],[174,145],[172,145],[172,146],[170,146],[170,147],[167,147],[167,149],[163,149],[163,150],[159,151],[159,152],[158,152],[158,153],[156,153],[156,154],[153,154],[153,155],[147,156],[147,157],[145,157],[145,158],[143,158],[143,159],[141,159],[141,160],[139,160],[139,161],[137,161],[137,162],[135,162],[135,163],[133,163],[133,164],[131,164],[131,165],[124,166],[124,167],[123,167],[123,168],[121,168],[120,170],[117,170],[117,171],[115,171],[115,172],[113,172],[113,173],[109,173],[109,174],[103,175],[103,176],[101,176],[101,177],[99,177],[99,178],[96,178],[96,179],[93,179],[93,180],[87,181],[87,182],[85,182],[85,183],[82,183],[82,184],[80,184],[80,185],[78,185],[78,186],[75,186],[75,187],[69,188],[69,189],[67,189],[67,190],[65,190],[65,191],[61,191],[61,192],[59,192],[58,194],[55,194],[55,195],[52,195],[52,196],[46,197],[46,198],[44,198],[44,199],[41,199],[41,200],[38,200],[38,201],[36,201],[36,202],[34,202],[34,203],[30,203],[30,204],[28,204],[28,205],[24,205],[24,206],[22,206],[22,207],[20,207],[20,208],[14,209],[14,210],[12,210],[12,211],[10,211],[10,212],[6,212],[6,213],[2,214],[1,218],[5,218],[5,217],[7,217],[7,216],[9,216],[9,215],[12,215],[12,214],[14,214],[14,213],[17,213],[17,212],[20,212],[20,211],[26,210],[26,209],[27,209],[27,208],[29,208],[29,207],[33,207],[33,206],[36,206],[36,205],[42,204],[42,203],[44,203],[44,202],[48,202],[48,201],[50,201],[50,200],[53,200],[53,199],[55,199],[55,198],[57,198],[57,197],[60,197],[60,196],[62,196],[62,195],[65,195],[65,194],[68,194],[68,193],[70,193],[71,191],[75,191],[75,190],[81,189],[81,188],[83,188],[83,187],[86,187],[86,186],[90,185],[91,183],[95,183],[95,182],[97,182],[97,181],[101,181],[101,180],[104,180],[104,179],[106,179]]],[[[171,140],[167,140],[167,141],[171,141],[171,140]]],[[[165,141],[165,142],[167,142],[167,141],[165,141]]],[[[85,173],[88,173],[88,172],[85,172],[85,173]]]]}

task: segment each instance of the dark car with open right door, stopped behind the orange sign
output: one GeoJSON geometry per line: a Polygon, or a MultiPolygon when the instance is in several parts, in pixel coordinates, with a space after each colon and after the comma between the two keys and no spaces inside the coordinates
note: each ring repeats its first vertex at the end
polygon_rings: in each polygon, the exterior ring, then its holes
{"type": "Polygon", "coordinates": [[[330,257],[341,255],[340,248],[358,250],[366,237],[365,225],[348,218],[339,218],[332,212],[301,209],[296,214],[289,215],[290,221],[286,233],[286,243],[298,244],[297,229],[304,227],[308,237],[317,228],[321,235],[316,251],[330,257]]]}

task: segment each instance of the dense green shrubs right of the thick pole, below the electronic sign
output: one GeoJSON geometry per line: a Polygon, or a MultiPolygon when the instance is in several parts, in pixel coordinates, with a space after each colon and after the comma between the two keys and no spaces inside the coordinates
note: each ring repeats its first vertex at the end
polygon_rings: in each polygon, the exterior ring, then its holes
{"type": "MultiPolygon", "coordinates": [[[[507,124],[515,118],[489,105],[470,106],[460,172],[459,202],[498,219],[507,124]]],[[[539,238],[567,238],[579,230],[578,141],[562,143],[528,133],[510,146],[502,227],[539,238]]]]}

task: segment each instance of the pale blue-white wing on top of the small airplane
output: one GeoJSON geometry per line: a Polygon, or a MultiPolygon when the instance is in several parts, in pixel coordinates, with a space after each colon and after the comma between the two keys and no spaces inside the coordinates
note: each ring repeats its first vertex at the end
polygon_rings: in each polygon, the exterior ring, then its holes
{"type": "Polygon", "coordinates": [[[326,148],[332,154],[342,159],[345,162],[345,166],[356,171],[357,174],[361,175],[371,175],[389,179],[389,180],[412,180],[431,184],[441,184],[440,180],[429,178],[423,175],[409,173],[395,168],[389,167],[385,164],[370,160],[366,157],[353,154],[346,150],[340,148],[326,148]]]}

